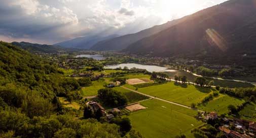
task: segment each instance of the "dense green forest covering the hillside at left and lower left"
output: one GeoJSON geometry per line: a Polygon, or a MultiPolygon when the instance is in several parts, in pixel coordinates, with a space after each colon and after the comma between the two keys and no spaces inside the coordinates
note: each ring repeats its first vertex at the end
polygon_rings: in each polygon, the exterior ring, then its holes
{"type": "Polygon", "coordinates": [[[82,82],[65,78],[55,63],[1,41],[0,137],[141,137],[64,109],[58,96],[79,99],[82,82]]]}

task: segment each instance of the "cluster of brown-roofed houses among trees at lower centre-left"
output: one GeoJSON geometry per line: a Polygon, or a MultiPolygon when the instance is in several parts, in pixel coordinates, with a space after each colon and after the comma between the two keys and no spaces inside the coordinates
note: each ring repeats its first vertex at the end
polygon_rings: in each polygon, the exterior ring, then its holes
{"type": "Polygon", "coordinates": [[[110,122],[115,116],[113,114],[117,113],[120,114],[121,111],[118,108],[112,109],[110,112],[106,112],[106,110],[97,102],[95,101],[90,101],[86,103],[87,107],[91,109],[93,112],[97,112],[98,110],[101,111],[102,115],[106,117],[106,120],[110,122]]]}

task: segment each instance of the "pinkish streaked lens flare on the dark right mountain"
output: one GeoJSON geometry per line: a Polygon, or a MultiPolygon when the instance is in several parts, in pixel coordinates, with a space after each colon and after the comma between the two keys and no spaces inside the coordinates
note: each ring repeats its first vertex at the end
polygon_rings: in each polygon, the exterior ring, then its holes
{"type": "Polygon", "coordinates": [[[217,47],[223,52],[227,51],[227,42],[225,39],[214,29],[207,29],[206,34],[209,36],[210,40],[214,42],[217,47]]]}

